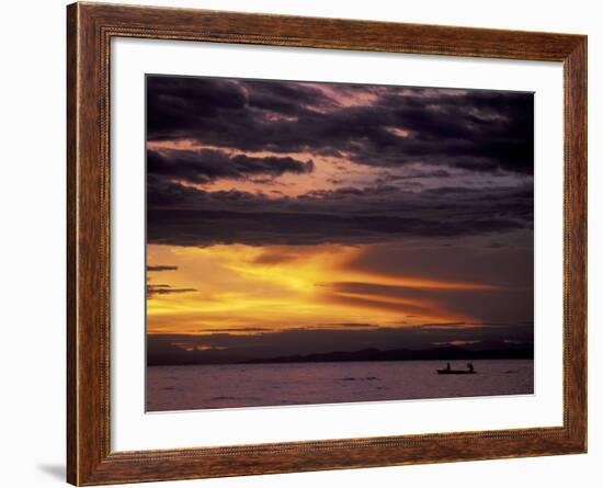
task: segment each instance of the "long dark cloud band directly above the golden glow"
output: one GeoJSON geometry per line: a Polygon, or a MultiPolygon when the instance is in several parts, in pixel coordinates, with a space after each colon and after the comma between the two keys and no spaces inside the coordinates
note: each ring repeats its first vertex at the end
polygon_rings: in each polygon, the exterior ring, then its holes
{"type": "Polygon", "coordinates": [[[522,227],[512,218],[429,222],[423,218],[322,214],[149,211],[148,242],[172,246],[371,243],[396,237],[446,238],[522,227]]]}

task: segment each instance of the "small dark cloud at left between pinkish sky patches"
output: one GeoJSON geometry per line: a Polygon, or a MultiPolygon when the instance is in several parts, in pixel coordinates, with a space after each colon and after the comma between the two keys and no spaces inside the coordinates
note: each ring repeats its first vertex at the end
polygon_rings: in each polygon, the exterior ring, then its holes
{"type": "Polygon", "coordinates": [[[219,178],[280,177],[285,172],[299,174],[312,169],[311,160],[298,161],[289,157],[228,156],[212,149],[147,150],[148,174],[190,183],[208,183],[219,178]]]}

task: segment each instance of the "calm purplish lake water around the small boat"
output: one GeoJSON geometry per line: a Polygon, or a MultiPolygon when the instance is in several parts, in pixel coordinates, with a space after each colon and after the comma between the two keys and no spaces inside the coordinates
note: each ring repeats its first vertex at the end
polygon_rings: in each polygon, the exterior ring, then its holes
{"type": "MultiPolygon", "coordinates": [[[[442,361],[150,366],[147,411],[339,404],[534,391],[532,360],[473,362],[477,374],[439,375],[442,361]]],[[[465,362],[452,362],[465,368],[465,362]]]]}

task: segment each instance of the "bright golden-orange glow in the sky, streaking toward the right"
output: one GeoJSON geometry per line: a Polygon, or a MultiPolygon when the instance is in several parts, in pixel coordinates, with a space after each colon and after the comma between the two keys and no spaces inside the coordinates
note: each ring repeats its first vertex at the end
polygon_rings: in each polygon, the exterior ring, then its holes
{"type": "Polygon", "coordinates": [[[453,313],[433,298],[417,298],[416,294],[405,296],[403,291],[494,290],[480,283],[356,270],[353,261],[364,250],[365,247],[340,245],[149,246],[149,265],[178,266],[174,271],[149,272],[149,283],[194,288],[195,292],[149,297],[148,331],[208,333],[228,329],[229,333],[232,330],[255,333],[289,328],[332,328],[333,324],[409,327],[425,322],[475,322],[475,318],[453,313]],[[367,291],[341,290],[346,283],[364,286],[367,291]],[[397,287],[397,295],[375,291],[372,285],[397,287]],[[408,318],[409,315],[413,318],[408,318]]]}

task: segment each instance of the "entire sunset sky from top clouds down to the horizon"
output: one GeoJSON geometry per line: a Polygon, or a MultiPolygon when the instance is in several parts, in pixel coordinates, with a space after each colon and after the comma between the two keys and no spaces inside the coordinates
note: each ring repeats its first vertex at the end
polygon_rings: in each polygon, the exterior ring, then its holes
{"type": "Polygon", "coordinates": [[[530,343],[533,217],[531,93],[147,76],[149,363],[530,343]]]}

